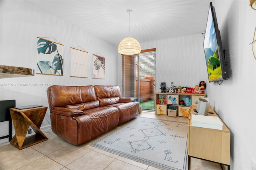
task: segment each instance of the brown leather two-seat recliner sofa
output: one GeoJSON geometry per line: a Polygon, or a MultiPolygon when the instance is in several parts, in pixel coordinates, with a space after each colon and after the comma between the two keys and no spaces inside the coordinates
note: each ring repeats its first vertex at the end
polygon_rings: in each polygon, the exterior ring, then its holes
{"type": "Polygon", "coordinates": [[[118,86],[50,86],[52,132],[80,145],[138,115],[139,103],[121,97],[118,86]]]}

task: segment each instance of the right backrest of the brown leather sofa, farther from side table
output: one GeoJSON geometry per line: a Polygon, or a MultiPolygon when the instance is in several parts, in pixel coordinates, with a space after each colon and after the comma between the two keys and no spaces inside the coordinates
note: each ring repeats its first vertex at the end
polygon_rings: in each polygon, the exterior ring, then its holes
{"type": "Polygon", "coordinates": [[[118,86],[94,85],[94,89],[101,107],[119,103],[121,92],[118,86]]]}

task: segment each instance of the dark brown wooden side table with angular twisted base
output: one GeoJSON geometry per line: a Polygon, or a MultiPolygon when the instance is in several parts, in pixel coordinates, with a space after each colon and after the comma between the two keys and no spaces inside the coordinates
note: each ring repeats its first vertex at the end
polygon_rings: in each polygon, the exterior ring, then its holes
{"type": "Polygon", "coordinates": [[[48,140],[48,138],[40,130],[46,111],[47,107],[10,109],[15,130],[15,135],[10,141],[10,144],[18,149],[24,149],[28,146],[48,140]],[[29,126],[36,134],[26,137],[29,126]]]}

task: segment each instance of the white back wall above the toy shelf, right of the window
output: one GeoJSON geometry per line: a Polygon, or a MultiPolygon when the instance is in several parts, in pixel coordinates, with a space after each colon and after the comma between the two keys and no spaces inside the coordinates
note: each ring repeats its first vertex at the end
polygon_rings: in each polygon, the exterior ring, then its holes
{"type": "Polygon", "coordinates": [[[142,49],[156,48],[156,92],[161,92],[160,83],[170,87],[195,87],[200,81],[208,81],[205,72],[206,60],[201,33],[142,43],[142,49]]]}

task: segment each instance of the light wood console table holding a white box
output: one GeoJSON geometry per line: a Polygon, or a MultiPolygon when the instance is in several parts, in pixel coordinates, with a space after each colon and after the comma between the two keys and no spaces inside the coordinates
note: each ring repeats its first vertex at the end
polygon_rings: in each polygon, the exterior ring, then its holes
{"type": "MultiPolygon", "coordinates": [[[[229,170],[230,130],[223,122],[222,130],[191,126],[191,115],[194,114],[194,109],[196,106],[190,107],[188,118],[188,169],[190,169],[190,158],[193,157],[226,165],[229,170]]],[[[207,116],[218,117],[216,114],[207,116]]]]}

